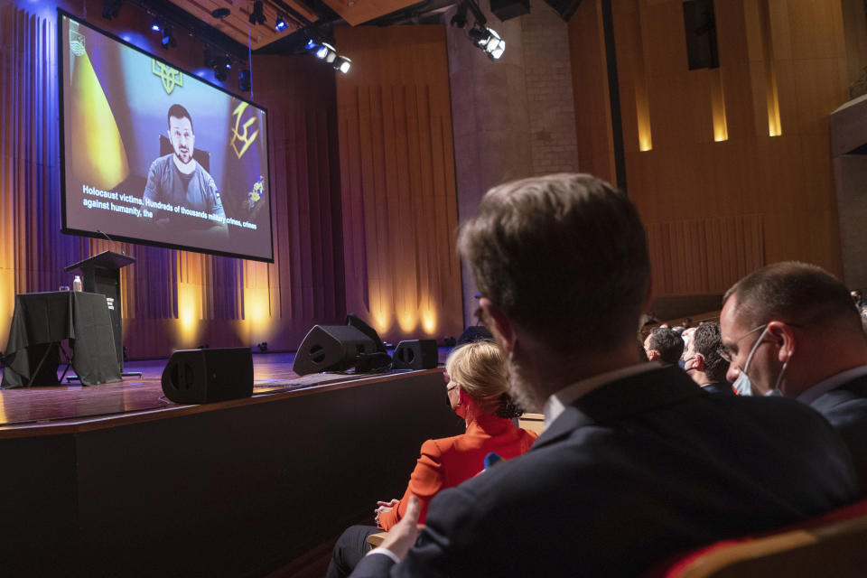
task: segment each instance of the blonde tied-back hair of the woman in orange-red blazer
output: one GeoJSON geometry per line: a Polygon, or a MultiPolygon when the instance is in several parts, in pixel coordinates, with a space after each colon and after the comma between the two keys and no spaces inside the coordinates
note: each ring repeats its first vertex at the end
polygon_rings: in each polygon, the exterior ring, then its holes
{"type": "Polygon", "coordinates": [[[506,358],[491,341],[474,341],[452,350],[445,370],[484,414],[497,414],[507,392],[506,358]]]}

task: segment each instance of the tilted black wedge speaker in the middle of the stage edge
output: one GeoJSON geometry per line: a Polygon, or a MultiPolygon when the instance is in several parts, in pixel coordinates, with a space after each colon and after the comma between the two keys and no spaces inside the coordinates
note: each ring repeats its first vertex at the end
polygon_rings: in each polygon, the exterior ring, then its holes
{"type": "Polygon", "coordinates": [[[314,325],[298,347],[292,369],[300,376],[320,371],[343,371],[377,345],[351,325],[314,325]]]}

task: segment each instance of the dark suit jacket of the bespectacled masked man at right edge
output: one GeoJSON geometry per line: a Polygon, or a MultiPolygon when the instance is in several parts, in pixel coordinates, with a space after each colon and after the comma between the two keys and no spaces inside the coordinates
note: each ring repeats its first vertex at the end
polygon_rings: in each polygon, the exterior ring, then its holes
{"type": "Polygon", "coordinates": [[[867,496],[867,376],[832,389],[810,406],[825,415],[849,447],[862,497],[867,496]]]}

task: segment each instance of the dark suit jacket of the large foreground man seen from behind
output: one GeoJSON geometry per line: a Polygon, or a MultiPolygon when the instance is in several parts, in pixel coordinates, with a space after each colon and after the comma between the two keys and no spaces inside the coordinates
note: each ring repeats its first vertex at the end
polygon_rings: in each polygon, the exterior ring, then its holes
{"type": "Polygon", "coordinates": [[[659,368],[578,399],[529,452],[438,494],[401,564],[368,555],[352,576],[636,574],[855,496],[848,452],[809,407],[659,368]]]}

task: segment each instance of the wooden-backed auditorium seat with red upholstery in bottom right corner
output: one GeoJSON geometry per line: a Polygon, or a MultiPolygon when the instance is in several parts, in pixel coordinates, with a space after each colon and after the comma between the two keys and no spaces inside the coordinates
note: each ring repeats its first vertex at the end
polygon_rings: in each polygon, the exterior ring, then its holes
{"type": "Polygon", "coordinates": [[[722,540],[668,558],[645,578],[757,578],[867,573],[867,500],[773,533],[722,540]]]}

